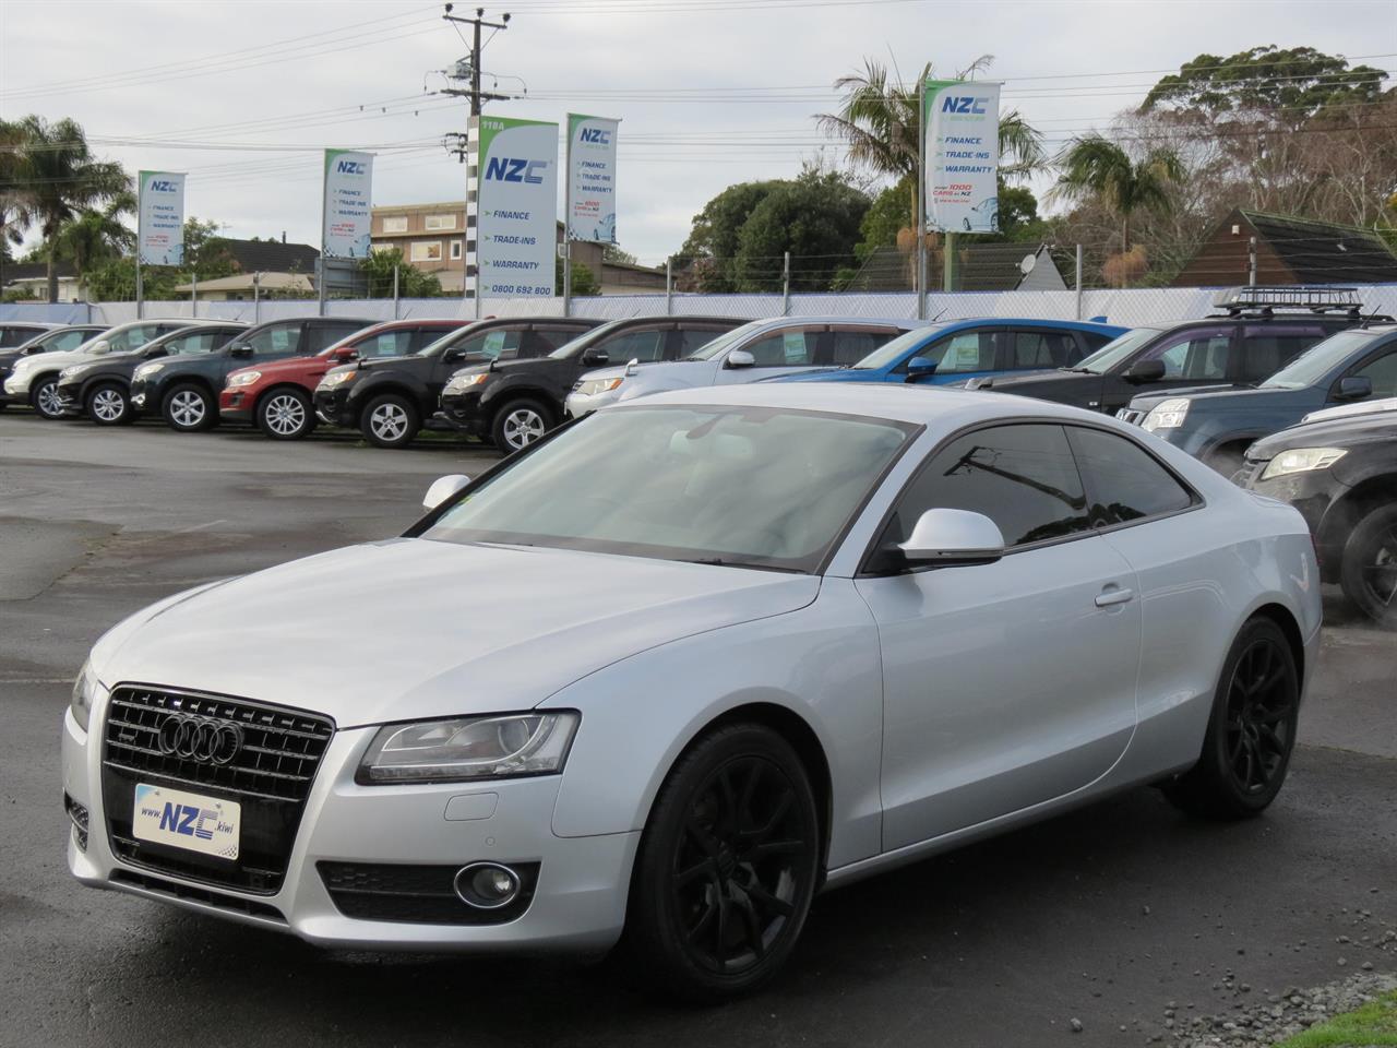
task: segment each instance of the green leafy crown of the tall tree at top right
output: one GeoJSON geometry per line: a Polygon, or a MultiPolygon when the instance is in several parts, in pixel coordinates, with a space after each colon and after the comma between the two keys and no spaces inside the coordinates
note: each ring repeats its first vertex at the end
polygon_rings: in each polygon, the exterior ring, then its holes
{"type": "Polygon", "coordinates": [[[1372,66],[1313,48],[1249,48],[1225,59],[1199,54],[1164,77],[1140,106],[1197,110],[1210,116],[1246,110],[1285,113],[1301,123],[1327,106],[1372,103],[1387,77],[1372,66]]]}

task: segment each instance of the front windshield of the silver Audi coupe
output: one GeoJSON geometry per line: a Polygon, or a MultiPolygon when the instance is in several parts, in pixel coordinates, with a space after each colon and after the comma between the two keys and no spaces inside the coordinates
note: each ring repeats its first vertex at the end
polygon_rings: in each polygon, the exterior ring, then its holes
{"type": "Polygon", "coordinates": [[[809,573],[914,430],[775,408],[606,411],[495,474],[423,538],[809,573]]]}

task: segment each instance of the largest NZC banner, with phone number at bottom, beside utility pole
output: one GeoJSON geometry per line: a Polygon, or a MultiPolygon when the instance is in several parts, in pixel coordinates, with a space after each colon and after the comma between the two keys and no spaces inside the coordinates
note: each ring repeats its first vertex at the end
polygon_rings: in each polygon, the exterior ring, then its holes
{"type": "Polygon", "coordinates": [[[481,296],[553,298],[557,124],[482,116],[476,166],[481,296]]]}

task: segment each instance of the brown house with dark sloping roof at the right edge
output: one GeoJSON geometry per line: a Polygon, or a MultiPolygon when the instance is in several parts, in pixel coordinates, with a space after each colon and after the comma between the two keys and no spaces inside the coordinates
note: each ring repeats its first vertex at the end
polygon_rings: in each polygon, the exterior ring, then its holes
{"type": "Polygon", "coordinates": [[[1393,284],[1397,256],[1370,229],[1235,208],[1173,278],[1176,288],[1246,284],[1393,284]]]}

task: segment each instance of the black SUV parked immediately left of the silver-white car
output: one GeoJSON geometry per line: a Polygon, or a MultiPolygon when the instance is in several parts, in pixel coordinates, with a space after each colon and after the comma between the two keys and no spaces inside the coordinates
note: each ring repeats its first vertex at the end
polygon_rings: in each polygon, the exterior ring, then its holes
{"type": "Polygon", "coordinates": [[[746,323],[735,317],[612,320],[539,361],[496,361],[458,372],[441,393],[441,416],[500,451],[517,451],[563,421],[563,402],[587,372],[630,361],[678,361],[746,323]]]}

